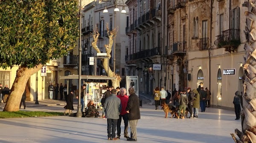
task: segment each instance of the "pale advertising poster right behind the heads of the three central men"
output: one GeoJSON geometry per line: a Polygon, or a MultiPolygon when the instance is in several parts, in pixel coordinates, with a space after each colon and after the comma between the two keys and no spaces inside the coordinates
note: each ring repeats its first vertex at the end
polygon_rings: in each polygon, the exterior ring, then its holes
{"type": "Polygon", "coordinates": [[[139,81],[138,76],[126,76],[126,90],[127,96],[129,96],[128,89],[134,88],[135,94],[139,96],[139,81]]]}

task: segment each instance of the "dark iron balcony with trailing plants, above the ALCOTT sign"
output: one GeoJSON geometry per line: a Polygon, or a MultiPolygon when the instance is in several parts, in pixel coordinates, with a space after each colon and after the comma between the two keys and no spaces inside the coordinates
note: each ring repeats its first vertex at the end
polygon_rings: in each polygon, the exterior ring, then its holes
{"type": "Polygon", "coordinates": [[[228,29],[222,31],[222,35],[216,36],[214,44],[217,48],[225,48],[225,51],[233,51],[241,44],[240,29],[228,29]]]}

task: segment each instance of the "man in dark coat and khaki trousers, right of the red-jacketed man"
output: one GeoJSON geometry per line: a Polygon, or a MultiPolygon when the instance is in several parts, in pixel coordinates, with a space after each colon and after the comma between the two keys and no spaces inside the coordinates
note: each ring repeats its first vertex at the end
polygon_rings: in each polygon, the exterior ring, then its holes
{"type": "Polygon", "coordinates": [[[130,96],[125,110],[128,113],[128,119],[131,129],[131,138],[127,140],[137,141],[137,123],[140,119],[140,100],[139,97],[135,94],[133,87],[130,87],[128,91],[130,96]]]}

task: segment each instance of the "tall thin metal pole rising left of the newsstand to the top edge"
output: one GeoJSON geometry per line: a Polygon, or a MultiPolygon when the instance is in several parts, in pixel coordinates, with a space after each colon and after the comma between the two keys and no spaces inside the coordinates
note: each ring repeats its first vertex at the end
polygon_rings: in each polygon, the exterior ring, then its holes
{"type": "MultiPolygon", "coordinates": [[[[76,117],[82,117],[82,112],[81,112],[81,63],[82,63],[82,47],[81,47],[81,33],[82,33],[82,0],[80,0],[80,6],[79,6],[79,78],[78,78],[78,83],[79,83],[79,94],[78,94],[78,105],[77,105],[77,113],[76,117]]],[[[69,94],[69,93],[67,93],[69,94]]]]}

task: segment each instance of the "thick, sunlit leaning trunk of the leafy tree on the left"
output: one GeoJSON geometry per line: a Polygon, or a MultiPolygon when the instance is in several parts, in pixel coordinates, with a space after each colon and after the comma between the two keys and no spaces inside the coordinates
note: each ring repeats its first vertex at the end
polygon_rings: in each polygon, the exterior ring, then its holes
{"type": "Polygon", "coordinates": [[[42,64],[34,68],[28,69],[27,67],[20,66],[16,72],[16,78],[12,84],[11,93],[6,101],[6,106],[3,111],[15,112],[20,109],[20,100],[24,93],[26,83],[30,76],[38,72],[43,67],[42,64]]]}

